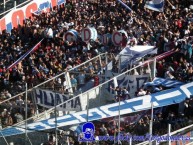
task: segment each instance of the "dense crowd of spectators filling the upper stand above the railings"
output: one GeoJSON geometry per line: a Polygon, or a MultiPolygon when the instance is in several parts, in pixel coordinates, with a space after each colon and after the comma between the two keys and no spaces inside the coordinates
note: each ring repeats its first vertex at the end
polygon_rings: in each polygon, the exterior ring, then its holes
{"type": "MultiPolygon", "coordinates": [[[[25,20],[23,26],[13,28],[11,33],[3,31],[0,35],[0,100],[11,98],[24,91],[25,82],[29,87],[33,87],[99,53],[108,52],[116,55],[125,46],[124,42],[122,47],[115,47],[112,43],[103,46],[100,38],[96,42],[91,40],[90,44],[83,42],[81,38],[77,41],[63,39],[64,33],[69,29],[81,32],[81,29],[88,25],[94,26],[99,34],[112,34],[115,30],[124,29],[128,34],[128,45],[156,45],[159,54],[176,49],[176,53],[171,57],[158,62],[157,76],[177,79],[182,82],[192,81],[193,15],[190,1],[165,2],[164,13],[144,8],[144,0],[129,0],[126,4],[131,7],[132,12],[115,1],[76,2],[67,0],[65,6],[55,7],[50,12],[40,15],[34,14],[30,19],[25,20]],[[42,38],[44,40],[35,52],[17,66],[7,70],[9,65],[35,46],[42,38]]],[[[80,71],[97,74],[101,68],[97,64],[99,63],[93,62],[89,64],[91,65],[90,70],[87,69],[88,66],[85,66],[85,69],[80,71]]],[[[78,78],[73,76],[71,78],[74,89],[76,89],[79,83],[78,78]]],[[[63,85],[63,82],[60,80],[59,84],[63,85]]],[[[23,120],[25,110],[20,106],[24,106],[25,102],[22,97],[1,105],[3,106],[1,108],[3,127],[23,120]]],[[[128,97],[129,95],[126,96],[126,98],[128,97]]],[[[34,106],[31,100],[28,103],[31,106],[28,116],[32,116],[34,106]]],[[[187,111],[185,112],[187,117],[187,111]]],[[[156,118],[155,122],[159,122],[160,116],[157,116],[158,119],[156,118]]],[[[179,116],[179,114],[175,113],[173,116],[179,116]]],[[[147,118],[143,118],[138,122],[139,126],[144,125],[146,128],[141,130],[143,133],[148,128],[147,120],[147,118]]],[[[159,123],[157,125],[160,126],[159,123]]],[[[132,125],[127,127],[132,128],[132,125]]],[[[135,130],[141,132],[140,128],[135,130]]],[[[126,132],[132,133],[131,131],[126,132]]],[[[71,144],[75,144],[73,139],[71,144]]]]}

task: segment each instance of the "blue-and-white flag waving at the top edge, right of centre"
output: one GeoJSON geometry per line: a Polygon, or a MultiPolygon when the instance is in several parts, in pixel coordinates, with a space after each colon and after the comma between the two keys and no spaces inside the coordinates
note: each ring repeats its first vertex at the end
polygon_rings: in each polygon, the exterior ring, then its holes
{"type": "Polygon", "coordinates": [[[157,11],[157,12],[163,12],[164,0],[147,1],[145,4],[145,8],[148,8],[150,10],[157,11]]]}

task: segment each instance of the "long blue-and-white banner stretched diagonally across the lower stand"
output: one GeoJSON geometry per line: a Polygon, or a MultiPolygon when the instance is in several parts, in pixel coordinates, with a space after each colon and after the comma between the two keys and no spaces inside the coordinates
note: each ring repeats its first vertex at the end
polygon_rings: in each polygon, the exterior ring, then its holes
{"type": "MultiPolygon", "coordinates": [[[[193,95],[193,82],[182,85],[178,88],[162,91],[159,93],[137,97],[119,103],[113,103],[93,109],[89,109],[88,121],[100,120],[104,118],[148,110],[153,104],[154,108],[177,104],[190,98],[193,95]]],[[[64,127],[87,122],[87,110],[69,115],[57,117],[57,126],[64,127]]],[[[55,118],[46,119],[40,122],[32,123],[27,126],[27,132],[41,131],[55,128],[55,118]]],[[[10,127],[1,130],[0,137],[24,134],[25,126],[10,127]]]]}

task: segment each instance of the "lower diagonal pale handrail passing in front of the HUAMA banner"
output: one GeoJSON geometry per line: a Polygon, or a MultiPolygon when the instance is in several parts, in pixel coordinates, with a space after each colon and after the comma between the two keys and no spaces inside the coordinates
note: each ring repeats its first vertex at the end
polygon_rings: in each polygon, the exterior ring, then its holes
{"type": "MultiPolygon", "coordinates": [[[[125,72],[117,75],[117,76],[114,76],[113,78],[107,80],[106,82],[104,82],[104,83],[102,83],[102,84],[99,84],[99,85],[96,86],[96,87],[93,87],[92,90],[97,89],[97,88],[99,88],[99,87],[102,87],[103,85],[109,83],[110,81],[113,81],[114,78],[120,77],[120,76],[122,76],[122,75],[124,75],[124,74],[126,74],[126,73],[128,73],[128,72],[130,72],[130,71],[132,71],[132,70],[135,70],[136,68],[138,68],[138,67],[140,67],[140,66],[143,66],[143,65],[145,65],[145,64],[147,64],[147,63],[150,63],[150,62],[153,62],[153,61],[154,61],[154,58],[152,58],[152,59],[150,59],[150,60],[147,60],[147,61],[143,62],[142,64],[137,65],[137,66],[135,66],[135,67],[133,67],[133,68],[131,68],[131,69],[129,69],[129,70],[127,70],[127,71],[125,71],[125,72]]],[[[89,92],[90,92],[90,90],[85,91],[85,92],[82,93],[82,95],[83,95],[83,94],[87,94],[87,93],[89,93],[89,92]]],[[[72,97],[71,99],[68,99],[67,101],[62,102],[61,104],[57,105],[56,108],[59,107],[59,106],[61,106],[61,105],[63,105],[63,104],[65,104],[65,103],[67,103],[68,101],[71,101],[71,100],[77,98],[77,97],[79,97],[79,94],[78,94],[77,96],[72,97]]],[[[52,111],[54,111],[54,109],[55,109],[55,107],[50,108],[50,109],[46,110],[46,113],[51,113],[52,111]]],[[[44,114],[45,114],[45,112],[42,112],[42,113],[40,113],[39,115],[42,116],[42,115],[44,115],[44,114]]],[[[38,115],[36,115],[36,116],[38,116],[38,115]]],[[[33,116],[33,117],[31,117],[31,118],[28,118],[27,120],[34,119],[34,121],[35,121],[35,119],[38,119],[38,118],[35,118],[36,116],[33,116]]],[[[20,123],[18,123],[18,124],[15,124],[14,126],[21,125],[22,123],[24,123],[24,121],[22,121],[22,122],[20,122],[20,123]]]]}

